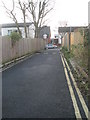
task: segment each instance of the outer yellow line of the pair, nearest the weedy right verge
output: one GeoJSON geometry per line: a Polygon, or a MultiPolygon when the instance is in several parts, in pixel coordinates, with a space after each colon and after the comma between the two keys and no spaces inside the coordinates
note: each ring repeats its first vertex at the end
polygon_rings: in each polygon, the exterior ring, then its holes
{"type": "Polygon", "coordinates": [[[69,65],[68,65],[68,63],[67,63],[67,61],[66,61],[65,58],[64,58],[64,60],[65,60],[65,63],[66,63],[66,65],[67,65],[67,67],[68,67],[68,70],[70,71],[70,76],[71,76],[71,78],[72,78],[73,84],[74,84],[75,89],[76,89],[76,91],[77,91],[78,97],[79,97],[79,99],[80,99],[80,102],[81,102],[82,107],[83,107],[83,109],[84,109],[84,112],[85,112],[85,114],[86,114],[86,117],[88,118],[88,113],[89,113],[88,107],[87,107],[87,105],[86,105],[86,103],[85,103],[85,101],[84,101],[84,98],[83,98],[83,96],[82,96],[79,88],[77,87],[77,84],[76,84],[76,82],[75,82],[75,79],[74,79],[74,77],[73,77],[73,74],[72,74],[72,72],[71,72],[71,70],[70,70],[70,67],[69,67],[69,65]]]}

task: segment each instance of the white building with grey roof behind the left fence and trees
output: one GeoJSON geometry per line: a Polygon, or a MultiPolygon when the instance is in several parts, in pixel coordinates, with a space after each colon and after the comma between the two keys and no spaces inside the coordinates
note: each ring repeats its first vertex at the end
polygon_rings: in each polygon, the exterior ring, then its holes
{"type": "MultiPolygon", "coordinates": [[[[22,33],[22,37],[25,38],[24,23],[18,23],[18,24],[19,24],[19,28],[20,28],[21,33],[22,33]]],[[[1,26],[0,34],[2,36],[10,35],[11,32],[13,32],[13,31],[17,32],[17,27],[16,27],[15,23],[2,24],[0,26],[1,26]]],[[[27,26],[28,37],[34,38],[34,25],[33,25],[33,23],[26,23],[26,26],[27,26]]]]}

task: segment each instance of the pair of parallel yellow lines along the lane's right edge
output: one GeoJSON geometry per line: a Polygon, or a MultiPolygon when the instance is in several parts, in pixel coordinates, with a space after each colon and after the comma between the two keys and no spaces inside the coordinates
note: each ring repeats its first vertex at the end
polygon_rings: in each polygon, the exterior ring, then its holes
{"type": "Polygon", "coordinates": [[[70,67],[69,67],[66,59],[63,58],[62,55],[61,55],[61,60],[62,60],[63,66],[64,66],[64,71],[65,71],[65,75],[66,75],[66,79],[67,79],[67,84],[68,84],[68,87],[69,87],[71,99],[72,99],[74,110],[75,110],[75,116],[76,116],[77,119],[81,119],[82,120],[82,117],[81,117],[81,114],[80,114],[80,110],[79,110],[79,107],[78,107],[78,104],[77,104],[77,100],[76,100],[75,95],[74,95],[74,91],[73,91],[73,88],[72,88],[72,85],[71,85],[71,82],[70,82],[70,78],[69,78],[67,69],[69,70],[71,80],[73,81],[73,85],[74,85],[74,87],[76,89],[77,95],[79,97],[79,100],[80,100],[81,105],[83,107],[83,110],[85,112],[85,115],[88,118],[88,115],[89,115],[88,107],[87,107],[87,105],[86,105],[86,103],[84,101],[84,98],[83,98],[79,88],[77,87],[77,84],[76,84],[75,79],[73,77],[73,74],[72,74],[72,72],[70,70],[70,67]],[[67,66],[67,69],[66,69],[66,66],[67,66]]]}

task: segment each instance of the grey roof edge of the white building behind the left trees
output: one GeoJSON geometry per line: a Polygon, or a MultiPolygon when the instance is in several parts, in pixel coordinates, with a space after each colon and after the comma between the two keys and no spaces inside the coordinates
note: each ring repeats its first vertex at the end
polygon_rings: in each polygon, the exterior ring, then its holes
{"type": "MultiPolygon", "coordinates": [[[[31,24],[33,24],[32,22],[28,22],[26,23],[26,26],[29,27],[31,24]]],[[[24,27],[24,23],[18,23],[19,27],[24,27]]],[[[9,23],[9,24],[2,24],[0,25],[1,28],[12,28],[12,27],[16,27],[15,23],[9,23]]]]}

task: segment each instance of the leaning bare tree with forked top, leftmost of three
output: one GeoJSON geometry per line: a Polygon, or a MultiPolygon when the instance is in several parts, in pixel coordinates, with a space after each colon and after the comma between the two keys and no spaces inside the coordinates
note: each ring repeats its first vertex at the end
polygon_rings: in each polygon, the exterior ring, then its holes
{"type": "Polygon", "coordinates": [[[14,10],[15,10],[15,2],[14,2],[14,0],[12,0],[12,3],[13,3],[12,10],[8,9],[3,1],[2,1],[2,3],[3,3],[3,7],[6,9],[6,13],[8,14],[8,16],[15,22],[16,27],[18,29],[18,32],[19,32],[19,34],[21,36],[21,31],[20,31],[20,28],[19,28],[18,20],[16,18],[16,13],[14,12],[14,10]]]}

